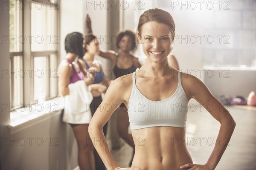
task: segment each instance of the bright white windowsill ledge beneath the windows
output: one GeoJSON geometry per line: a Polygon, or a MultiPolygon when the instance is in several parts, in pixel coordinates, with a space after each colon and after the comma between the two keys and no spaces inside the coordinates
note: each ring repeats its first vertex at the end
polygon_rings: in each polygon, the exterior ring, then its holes
{"type": "Polygon", "coordinates": [[[64,98],[57,97],[30,107],[10,112],[10,134],[17,133],[53,116],[60,115],[64,108],[64,98]]]}

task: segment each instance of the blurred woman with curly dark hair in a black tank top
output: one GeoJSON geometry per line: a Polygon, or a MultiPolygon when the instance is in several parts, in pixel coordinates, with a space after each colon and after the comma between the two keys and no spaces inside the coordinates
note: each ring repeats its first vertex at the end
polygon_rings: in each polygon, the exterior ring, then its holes
{"type": "MultiPolygon", "coordinates": [[[[87,31],[92,34],[91,20],[87,14],[87,31]]],[[[135,33],[131,30],[120,31],[117,35],[116,47],[119,49],[118,53],[115,51],[103,51],[100,49],[99,56],[109,59],[112,64],[113,74],[115,78],[133,73],[137,68],[140,68],[140,62],[137,57],[133,55],[136,50],[135,33]]],[[[125,139],[127,143],[133,148],[134,156],[134,141],[131,134],[128,133],[129,118],[127,108],[121,104],[117,109],[117,131],[118,135],[125,139]]],[[[131,160],[132,160],[131,159],[131,160]]],[[[131,164],[131,161],[130,161],[131,164]]]]}

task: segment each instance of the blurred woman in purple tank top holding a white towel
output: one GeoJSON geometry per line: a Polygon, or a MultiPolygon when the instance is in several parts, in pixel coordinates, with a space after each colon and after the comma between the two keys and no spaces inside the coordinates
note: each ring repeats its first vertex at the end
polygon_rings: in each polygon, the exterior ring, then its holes
{"type": "MultiPolygon", "coordinates": [[[[88,141],[90,139],[88,126],[92,116],[88,111],[87,103],[92,101],[91,92],[98,91],[99,87],[91,85],[94,77],[87,76],[77,59],[77,57],[83,56],[82,34],[79,32],[68,34],[65,38],[65,50],[66,57],[58,66],[59,94],[65,97],[63,121],[70,124],[75,134],[80,169],[93,170],[95,169],[94,147],[92,142],[88,141]],[[84,94],[80,94],[80,92],[84,92],[84,94]]],[[[105,91],[103,85],[102,91],[105,91]]]]}

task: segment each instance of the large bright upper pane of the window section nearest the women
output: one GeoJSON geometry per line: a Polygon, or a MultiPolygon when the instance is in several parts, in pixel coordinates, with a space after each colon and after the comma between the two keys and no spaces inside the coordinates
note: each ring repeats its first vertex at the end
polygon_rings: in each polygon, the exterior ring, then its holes
{"type": "Polygon", "coordinates": [[[58,42],[56,34],[56,11],[53,6],[32,3],[31,9],[31,51],[55,51],[58,42]]]}

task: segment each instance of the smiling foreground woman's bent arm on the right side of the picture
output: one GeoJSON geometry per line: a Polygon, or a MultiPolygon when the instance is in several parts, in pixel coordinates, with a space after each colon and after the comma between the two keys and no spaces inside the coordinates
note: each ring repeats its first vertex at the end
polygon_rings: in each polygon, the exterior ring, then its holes
{"type": "MultiPolygon", "coordinates": [[[[215,169],[221,159],[227,144],[233,134],[236,122],[224,106],[211,94],[207,86],[198,78],[189,75],[190,88],[189,97],[194,98],[198,103],[204,106],[206,110],[220,122],[221,127],[215,143],[215,147],[205,165],[185,164],[181,168],[193,167],[198,169],[215,169]]],[[[185,83],[187,84],[187,83],[185,83]]]]}

